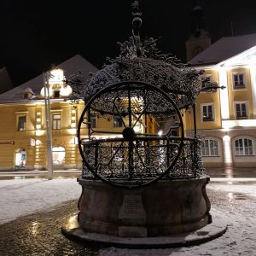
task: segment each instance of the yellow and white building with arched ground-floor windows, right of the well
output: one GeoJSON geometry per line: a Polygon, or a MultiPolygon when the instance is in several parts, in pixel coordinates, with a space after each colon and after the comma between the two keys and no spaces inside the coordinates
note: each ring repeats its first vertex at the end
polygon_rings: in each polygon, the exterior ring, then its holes
{"type": "MultiPolygon", "coordinates": [[[[254,45],[255,34],[221,38],[190,61],[195,69],[205,70],[202,88],[213,81],[225,87],[213,94],[202,90],[195,106],[206,167],[256,167],[254,45]]],[[[190,115],[186,122],[193,125],[190,115]]],[[[187,132],[193,134],[193,128],[187,132]]]]}

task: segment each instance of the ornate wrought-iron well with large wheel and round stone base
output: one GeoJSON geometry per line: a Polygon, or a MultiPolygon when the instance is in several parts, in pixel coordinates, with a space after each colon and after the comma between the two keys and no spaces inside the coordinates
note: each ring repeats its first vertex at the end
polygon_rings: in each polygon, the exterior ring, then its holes
{"type": "Polygon", "coordinates": [[[199,230],[212,222],[209,177],[200,138],[185,137],[183,113],[195,106],[202,72],[160,54],[153,38],[142,40],[137,1],[132,7],[132,36],[119,43],[119,56],[85,85],[79,75],[68,80],[86,103],[78,127],[79,227],[117,237],[199,230]],[[109,121],[121,127],[109,129],[109,121]]]}

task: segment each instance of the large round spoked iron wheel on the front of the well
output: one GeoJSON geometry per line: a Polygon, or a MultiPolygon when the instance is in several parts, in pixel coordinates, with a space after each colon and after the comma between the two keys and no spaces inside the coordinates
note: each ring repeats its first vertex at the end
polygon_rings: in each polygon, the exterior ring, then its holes
{"type": "Polygon", "coordinates": [[[99,91],[84,108],[81,130],[88,131],[88,137],[79,134],[84,173],[90,170],[95,177],[117,186],[133,188],[164,177],[183,148],[183,119],[177,105],[163,90],[142,82],[113,84],[99,91]],[[92,114],[105,119],[105,125],[92,127],[92,114]],[[111,124],[116,117],[121,127],[107,129],[106,122],[111,124]],[[161,118],[174,120],[163,136],[154,127],[161,118]],[[172,136],[173,129],[179,137],[172,136]]]}

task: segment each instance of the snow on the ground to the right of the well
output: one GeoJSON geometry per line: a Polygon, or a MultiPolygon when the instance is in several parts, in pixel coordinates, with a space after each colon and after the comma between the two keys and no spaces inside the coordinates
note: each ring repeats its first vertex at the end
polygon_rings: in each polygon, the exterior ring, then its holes
{"type": "MultiPolygon", "coordinates": [[[[256,256],[256,183],[209,183],[212,208],[228,224],[223,236],[199,246],[167,249],[102,249],[99,256],[256,256]],[[224,193],[223,193],[224,192],[224,193]],[[235,195],[247,200],[236,200],[235,195]]],[[[238,197],[239,198],[239,197],[238,197]]]]}

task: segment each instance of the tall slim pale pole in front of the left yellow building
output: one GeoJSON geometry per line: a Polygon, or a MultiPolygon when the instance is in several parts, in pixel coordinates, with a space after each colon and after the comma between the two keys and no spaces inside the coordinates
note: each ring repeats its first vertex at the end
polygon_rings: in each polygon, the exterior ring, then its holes
{"type": "Polygon", "coordinates": [[[44,73],[44,106],[45,106],[45,125],[47,134],[47,170],[48,179],[53,178],[53,163],[52,163],[52,131],[50,119],[50,104],[49,104],[49,73],[44,73]]]}

